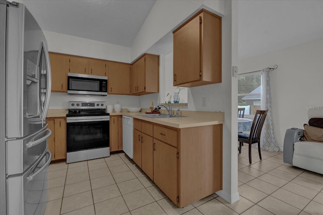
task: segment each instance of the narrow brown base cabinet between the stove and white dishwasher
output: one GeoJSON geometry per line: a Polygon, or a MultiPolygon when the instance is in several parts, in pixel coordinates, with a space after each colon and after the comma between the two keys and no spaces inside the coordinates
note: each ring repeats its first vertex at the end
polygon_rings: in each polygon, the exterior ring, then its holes
{"type": "Polygon", "coordinates": [[[110,116],[110,151],[122,150],[122,116],[110,116]]]}

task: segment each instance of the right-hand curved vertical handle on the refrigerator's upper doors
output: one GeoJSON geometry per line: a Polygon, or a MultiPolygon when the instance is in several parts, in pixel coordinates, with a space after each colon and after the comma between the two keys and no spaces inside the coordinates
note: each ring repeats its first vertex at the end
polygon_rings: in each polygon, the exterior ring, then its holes
{"type": "Polygon", "coordinates": [[[44,50],[44,57],[46,60],[46,96],[45,96],[45,104],[44,104],[44,109],[42,112],[42,120],[46,120],[47,116],[47,111],[49,107],[49,99],[50,99],[50,91],[51,91],[51,71],[50,71],[50,61],[49,61],[49,55],[48,55],[48,49],[47,49],[47,44],[45,41],[42,41],[42,47],[44,50]]]}

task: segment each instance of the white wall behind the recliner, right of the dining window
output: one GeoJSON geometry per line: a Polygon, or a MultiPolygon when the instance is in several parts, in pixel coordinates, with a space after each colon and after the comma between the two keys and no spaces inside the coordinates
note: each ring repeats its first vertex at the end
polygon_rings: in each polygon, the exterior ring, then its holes
{"type": "Polygon", "coordinates": [[[239,73],[278,65],[270,73],[274,136],[283,150],[286,129],[304,128],[309,107],[323,105],[323,38],[239,60],[239,73]]]}

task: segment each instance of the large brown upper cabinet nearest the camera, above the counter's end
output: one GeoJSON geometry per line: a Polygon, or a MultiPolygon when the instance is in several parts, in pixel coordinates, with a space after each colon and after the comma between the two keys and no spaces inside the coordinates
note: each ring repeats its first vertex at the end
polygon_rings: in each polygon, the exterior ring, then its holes
{"type": "Polygon", "coordinates": [[[222,82],[221,17],[204,9],[173,31],[174,86],[222,82]]]}

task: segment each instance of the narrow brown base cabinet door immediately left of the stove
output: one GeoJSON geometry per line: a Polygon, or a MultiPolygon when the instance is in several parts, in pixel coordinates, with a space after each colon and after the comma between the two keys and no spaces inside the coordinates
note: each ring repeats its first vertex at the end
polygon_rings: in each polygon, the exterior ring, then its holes
{"type": "Polygon", "coordinates": [[[66,159],[66,118],[55,119],[55,159],[66,159]]]}

